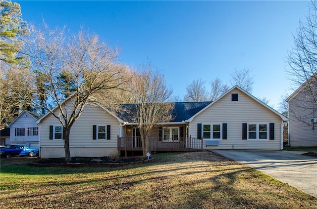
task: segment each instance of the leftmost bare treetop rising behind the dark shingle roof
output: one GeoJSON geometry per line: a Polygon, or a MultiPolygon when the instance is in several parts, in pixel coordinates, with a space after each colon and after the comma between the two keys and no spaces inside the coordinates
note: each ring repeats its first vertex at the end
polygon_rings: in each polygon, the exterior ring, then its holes
{"type": "Polygon", "coordinates": [[[186,94],[184,101],[186,102],[201,102],[208,100],[208,93],[205,87],[205,81],[202,79],[194,80],[186,86],[186,94]]]}

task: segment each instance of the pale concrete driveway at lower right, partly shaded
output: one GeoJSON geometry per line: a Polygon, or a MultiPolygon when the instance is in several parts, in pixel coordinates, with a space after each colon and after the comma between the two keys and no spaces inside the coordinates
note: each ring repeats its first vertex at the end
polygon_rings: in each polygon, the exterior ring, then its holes
{"type": "Polygon", "coordinates": [[[212,150],[317,197],[317,158],[304,152],[212,150]]]}

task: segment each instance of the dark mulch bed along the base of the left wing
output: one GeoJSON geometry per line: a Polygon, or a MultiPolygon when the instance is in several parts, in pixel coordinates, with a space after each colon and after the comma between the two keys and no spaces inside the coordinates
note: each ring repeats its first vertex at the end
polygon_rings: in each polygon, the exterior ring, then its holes
{"type": "Polygon", "coordinates": [[[143,158],[119,158],[111,160],[108,157],[72,157],[70,163],[65,163],[65,158],[46,158],[39,159],[32,163],[31,166],[37,167],[122,167],[136,164],[153,162],[155,159],[143,160],[143,158]]]}

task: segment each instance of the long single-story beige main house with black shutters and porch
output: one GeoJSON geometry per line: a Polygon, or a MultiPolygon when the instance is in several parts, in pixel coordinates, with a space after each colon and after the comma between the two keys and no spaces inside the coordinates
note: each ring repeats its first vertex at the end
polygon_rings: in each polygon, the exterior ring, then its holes
{"type": "MultiPolygon", "coordinates": [[[[69,99],[63,102],[68,111],[69,99]]],[[[135,105],[125,104],[133,111],[135,105]]],[[[54,111],[57,111],[55,109],[54,111]]],[[[238,86],[214,102],[175,103],[171,121],[158,123],[151,133],[152,150],[283,149],[283,125],[288,119],[238,86]],[[195,144],[194,144],[195,143],[195,144]]],[[[129,113],[111,113],[87,104],[70,130],[72,157],[102,157],[117,150],[140,151],[140,132],[129,113]]],[[[40,157],[65,157],[63,128],[51,114],[37,122],[41,129],[40,157]]]]}

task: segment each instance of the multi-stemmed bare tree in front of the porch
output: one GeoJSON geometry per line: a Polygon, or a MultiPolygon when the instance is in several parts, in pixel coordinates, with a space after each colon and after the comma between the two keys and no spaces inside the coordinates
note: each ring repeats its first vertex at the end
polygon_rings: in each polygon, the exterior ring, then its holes
{"type": "Polygon", "coordinates": [[[173,103],[166,102],[172,94],[167,88],[164,76],[153,70],[151,64],[143,64],[132,81],[132,100],[136,111],[131,113],[141,133],[143,157],[149,150],[147,138],[153,127],[160,122],[171,120],[173,103]]]}

